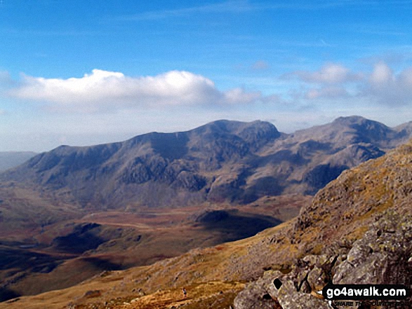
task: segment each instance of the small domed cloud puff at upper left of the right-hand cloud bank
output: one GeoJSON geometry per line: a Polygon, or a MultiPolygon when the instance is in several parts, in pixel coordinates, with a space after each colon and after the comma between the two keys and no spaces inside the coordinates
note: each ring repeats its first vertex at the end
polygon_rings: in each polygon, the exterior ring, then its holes
{"type": "Polygon", "coordinates": [[[345,83],[348,81],[359,81],[361,74],[352,74],[350,69],[340,64],[325,64],[319,71],[294,71],[284,77],[297,76],[307,83],[345,83]]]}

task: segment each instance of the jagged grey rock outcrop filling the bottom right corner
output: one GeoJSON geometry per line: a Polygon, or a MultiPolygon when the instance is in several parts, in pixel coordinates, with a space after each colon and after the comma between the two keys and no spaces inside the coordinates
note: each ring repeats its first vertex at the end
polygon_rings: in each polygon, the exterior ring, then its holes
{"type": "MultiPolygon", "coordinates": [[[[234,308],[273,308],[275,304],[277,308],[331,308],[316,293],[328,282],[404,284],[411,289],[412,216],[385,212],[351,249],[335,248],[330,253],[333,255],[305,256],[288,274],[266,271],[238,294],[234,308]],[[274,280],[282,282],[279,289],[274,280]]],[[[406,302],[412,303],[412,299],[406,302]]]]}

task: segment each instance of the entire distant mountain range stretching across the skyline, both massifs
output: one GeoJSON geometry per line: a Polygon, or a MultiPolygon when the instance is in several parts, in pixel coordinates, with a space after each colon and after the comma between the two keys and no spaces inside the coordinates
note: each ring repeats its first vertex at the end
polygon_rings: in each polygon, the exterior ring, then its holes
{"type": "Polygon", "coordinates": [[[60,146],[0,179],[46,189],[82,207],[245,203],[265,195],[314,194],[343,170],[406,142],[411,132],[412,123],[388,128],[358,116],[291,135],[263,121],[215,121],[113,144],[60,146]]]}

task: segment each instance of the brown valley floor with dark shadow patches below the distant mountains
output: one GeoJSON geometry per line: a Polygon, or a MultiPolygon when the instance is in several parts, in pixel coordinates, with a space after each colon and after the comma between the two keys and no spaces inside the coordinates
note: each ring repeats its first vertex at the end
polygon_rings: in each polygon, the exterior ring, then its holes
{"type": "Polygon", "coordinates": [[[36,193],[14,190],[15,194],[3,195],[0,205],[5,214],[8,205],[23,207],[21,217],[16,208],[14,222],[0,225],[2,301],[71,287],[102,271],[149,265],[197,247],[247,238],[295,217],[312,198],[286,195],[251,205],[142,207],[133,212],[71,211],[70,205],[65,209],[60,204],[66,211],[54,212],[54,202],[41,200],[39,205],[36,193]],[[30,214],[26,207],[34,212],[30,221],[25,219],[30,214]],[[47,214],[46,224],[39,224],[42,214],[47,214]],[[38,280],[44,283],[35,284],[38,280]]]}

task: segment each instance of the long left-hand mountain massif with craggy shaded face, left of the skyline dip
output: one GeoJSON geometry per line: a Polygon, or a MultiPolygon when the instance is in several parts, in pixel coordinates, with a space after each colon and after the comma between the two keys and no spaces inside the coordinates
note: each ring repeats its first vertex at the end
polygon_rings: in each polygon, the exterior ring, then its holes
{"type": "Polygon", "coordinates": [[[279,135],[270,123],[216,121],[188,132],[153,132],[121,143],[60,146],[2,179],[68,192],[82,206],[187,205],[215,191],[211,172],[222,165],[241,167],[243,158],[279,135]]]}

